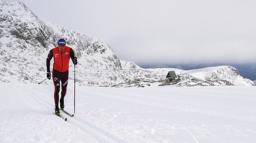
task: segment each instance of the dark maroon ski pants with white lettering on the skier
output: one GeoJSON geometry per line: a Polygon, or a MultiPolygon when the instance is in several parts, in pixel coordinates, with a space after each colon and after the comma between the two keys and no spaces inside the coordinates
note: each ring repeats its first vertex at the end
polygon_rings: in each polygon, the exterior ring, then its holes
{"type": "Polygon", "coordinates": [[[69,80],[69,70],[65,72],[59,72],[56,70],[52,70],[52,80],[54,83],[55,91],[54,91],[54,102],[55,107],[59,107],[59,89],[61,85],[61,99],[64,99],[67,92],[67,85],[69,80]],[[60,84],[61,81],[61,84],[60,84]]]}

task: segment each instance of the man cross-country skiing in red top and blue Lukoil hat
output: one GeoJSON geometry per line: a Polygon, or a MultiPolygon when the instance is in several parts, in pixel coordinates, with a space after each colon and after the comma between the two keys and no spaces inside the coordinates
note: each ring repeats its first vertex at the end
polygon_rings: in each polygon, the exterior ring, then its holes
{"type": "Polygon", "coordinates": [[[77,58],[74,56],[74,51],[72,48],[66,46],[66,41],[64,39],[59,39],[58,47],[51,49],[48,57],[46,59],[47,67],[47,78],[51,79],[50,72],[50,61],[54,58],[53,70],[52,70],[52,80],[54,83],[54,102],[55,102],[55,114],[59,115],[59,103],[60,108],[64,108],[64,97],[67,92],[67,84],[69,79],[69,60],[76,65],[77,58]],[[61,81],[61,84],[60,84],[61,81]],[[61,86],[61,98],[59,100],[59,89],[61,86]]]}

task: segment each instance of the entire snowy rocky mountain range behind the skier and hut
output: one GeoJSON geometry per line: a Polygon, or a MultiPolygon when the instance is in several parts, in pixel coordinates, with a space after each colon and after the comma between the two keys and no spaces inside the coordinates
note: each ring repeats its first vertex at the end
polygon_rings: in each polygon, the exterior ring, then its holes
{"type": "MultiPolygon", "coordinates": [[[[46,57],[59,38],[74,49],[78,57],[76,83],[85,86],[147,87],[165,85],[168,71],[184,80],[173,86],[254,85],[229,66],[184,71],[180,69],[142,69],[120,60],[100,38],[69,30],[36,16],[19,1],[0,1],[0,81],[38,83],[46,78],[46,57]]],[[[51,61],[52,68],[53,60],[51,61]]],[[[74,80],[70,62],[69,79],[74,80]]],[[[44,84],[52,84],[46,80],[44,84]]]]}

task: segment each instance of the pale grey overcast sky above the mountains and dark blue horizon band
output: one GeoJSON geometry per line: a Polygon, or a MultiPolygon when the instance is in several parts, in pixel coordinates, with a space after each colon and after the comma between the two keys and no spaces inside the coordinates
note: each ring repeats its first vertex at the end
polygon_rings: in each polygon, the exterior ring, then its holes
{"type": "Polygon", "coordinates": [[[256,62],[255,0],[21,0],[139,65],[256,62]]]}

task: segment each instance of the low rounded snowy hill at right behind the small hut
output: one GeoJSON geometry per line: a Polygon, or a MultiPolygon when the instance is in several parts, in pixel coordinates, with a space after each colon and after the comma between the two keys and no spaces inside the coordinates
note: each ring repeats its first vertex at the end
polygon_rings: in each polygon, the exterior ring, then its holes
{"type": "MultiPolygon", "coordinates": [[[[174,83],[177,87],[182,86],[214,86],[214,85],[254,85],[254,83],[240,76],[237,69],[230,66],[206,67],[195,70],[180,70],[180,69],[149,69],[155,72],[167,73],[175,71],[183,80],[174,83]]],[[[165,84],[163,84],[165,85],[165,84]]]]}

